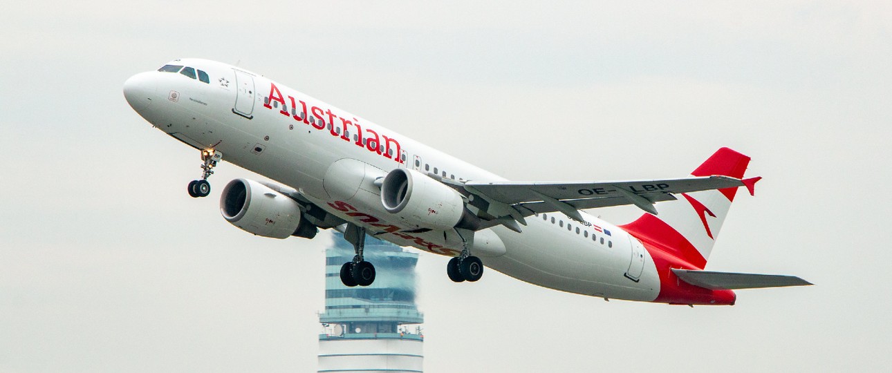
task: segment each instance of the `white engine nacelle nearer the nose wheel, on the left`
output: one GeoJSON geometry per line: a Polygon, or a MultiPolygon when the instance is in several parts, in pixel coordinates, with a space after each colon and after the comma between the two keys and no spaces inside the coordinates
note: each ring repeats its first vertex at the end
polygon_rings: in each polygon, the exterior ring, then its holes
{"type": "Polygon", "coordinates": [[[282,193],[248,179],[229,182],[220,196],[220,214],[236,227],[258,236],[312,238],[316,227],[301,219],[301,206],[282,193]]]}

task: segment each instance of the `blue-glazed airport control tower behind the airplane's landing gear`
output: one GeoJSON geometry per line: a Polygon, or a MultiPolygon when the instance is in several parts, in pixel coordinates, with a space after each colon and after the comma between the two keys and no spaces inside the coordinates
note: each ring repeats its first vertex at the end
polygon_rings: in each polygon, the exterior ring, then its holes
{"type": "Polygon", "coordinates": [[[418,255],[366,237],[366,260],[375,263],[375,283],[347,288],[341,265],[353,260],[353,246],[335,233],[326,250],[326,311],[319,315],[319,372],[421,372],[424,361],[415,305],[418,255]]]}

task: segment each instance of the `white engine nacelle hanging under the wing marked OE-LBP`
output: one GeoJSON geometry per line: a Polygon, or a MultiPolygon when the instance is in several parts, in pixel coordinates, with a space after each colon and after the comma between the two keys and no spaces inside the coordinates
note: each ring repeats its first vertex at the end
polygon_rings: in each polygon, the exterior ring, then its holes
{"type": "Polygon", "coordinates": [[[381,203],[403,222],[434,231],[452,229],[465,212],[465,201],[458,191],[406,168],[384,176],[381,203]]]}

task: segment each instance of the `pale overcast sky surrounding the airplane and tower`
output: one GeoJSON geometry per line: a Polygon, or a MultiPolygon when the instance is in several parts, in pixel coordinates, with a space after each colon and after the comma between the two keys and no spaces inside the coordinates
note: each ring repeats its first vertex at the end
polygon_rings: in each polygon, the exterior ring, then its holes
{"type": "MultiPolygon", "coordinates": [[[[419,258],[425,371],[888,369],[888,2],[10,2],[0,22],[0,372],[315,371],[316,239],[186,183],[198,152],[121,93],[239,64],[513,180],[764,176],[707,270],[795,274],[731,307],[611,301],[419,258]]],[[[594,210],[614,223],[634,207],[594,210]]],[[[544,248],[543,248],[544,249],[544,248]]]]}

